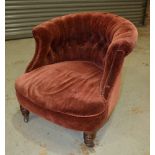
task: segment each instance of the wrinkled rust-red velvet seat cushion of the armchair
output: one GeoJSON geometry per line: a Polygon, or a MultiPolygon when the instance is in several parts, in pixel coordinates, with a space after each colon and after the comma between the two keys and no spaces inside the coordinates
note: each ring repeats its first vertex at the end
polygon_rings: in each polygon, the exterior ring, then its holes
{"type": "Polygon", "coordinates": [[[72,116],[102,113],[102,69],[87,61],[46,65],[16,80],[16,91],[34,105],[72,116]]]}

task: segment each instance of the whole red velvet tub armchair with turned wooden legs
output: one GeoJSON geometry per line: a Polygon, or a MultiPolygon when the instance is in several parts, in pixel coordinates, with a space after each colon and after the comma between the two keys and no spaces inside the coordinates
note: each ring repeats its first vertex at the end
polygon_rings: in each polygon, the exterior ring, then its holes
{"type": "Polygon", "coordinates": [[[24,121],[33,112],[94,138],[113,111],[124,58],[137,30],[110,13],[88,12],[57,17],[33,28],[33,59],[15,83],[24,121]]]}

